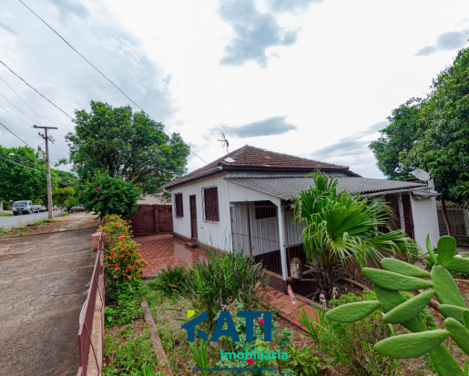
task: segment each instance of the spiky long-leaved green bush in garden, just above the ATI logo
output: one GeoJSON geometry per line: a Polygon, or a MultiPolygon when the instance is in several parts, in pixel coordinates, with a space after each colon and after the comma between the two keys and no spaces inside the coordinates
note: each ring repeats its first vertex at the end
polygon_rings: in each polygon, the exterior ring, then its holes
{"type": "Polygon", "coordinates": [[[259,306],[265,293],[260,292],[267,282],[262,280],[262,267],[242,253],[207,250],[205,259],[189,267],[186,298],[198,312],[208,312],[209,329],[222,306],[231,300],[244,304],[247,310],[259,306]]]}

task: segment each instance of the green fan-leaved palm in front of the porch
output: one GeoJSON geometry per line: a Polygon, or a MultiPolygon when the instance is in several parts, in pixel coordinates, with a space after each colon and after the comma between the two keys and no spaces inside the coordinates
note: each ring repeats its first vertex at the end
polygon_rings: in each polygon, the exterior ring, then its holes
{"type": "Polygon", "coordinates": [[[294,201],[295,219],[305,228],[301,238],[320,292],[331,297],[345,263],[362,267],[383,255],[412,256],[417,245],[401,229],[392,230],[392,211],[378,199],[368,200],[337,187],[338,181],[320,172],[311,174],[315,187],[301,190],[294,201]],[[383,232],[381,229],[386,229],[383,232]]]}

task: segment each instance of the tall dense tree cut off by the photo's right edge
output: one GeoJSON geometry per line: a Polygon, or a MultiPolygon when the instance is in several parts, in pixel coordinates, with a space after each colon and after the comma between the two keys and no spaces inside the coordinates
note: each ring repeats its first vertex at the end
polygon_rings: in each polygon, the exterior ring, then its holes
{"type": "Polygon", "coordinates": [[[451,236],[445,200],[469,199],[469,48],[461,50],[433,80],[433,92],[422,117],[426,126],[409,159],[434,178],[441,193],[444,220],[451,236]]]}

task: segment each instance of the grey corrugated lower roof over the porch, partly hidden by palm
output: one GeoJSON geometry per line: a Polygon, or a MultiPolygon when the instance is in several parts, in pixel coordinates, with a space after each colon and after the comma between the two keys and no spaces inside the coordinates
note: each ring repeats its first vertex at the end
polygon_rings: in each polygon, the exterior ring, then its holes
{"type": "MultiPolygon", "coordinates": [[[[270,196],[290,199],[301,189],[314,187],[312,178],[225,178],[231,183],[251,188],[270,196]]],[[[426,188],[424,184],[378,178],[336,178],[340,188],[350,193],[370,194],[396,189],[426,188]]]]}

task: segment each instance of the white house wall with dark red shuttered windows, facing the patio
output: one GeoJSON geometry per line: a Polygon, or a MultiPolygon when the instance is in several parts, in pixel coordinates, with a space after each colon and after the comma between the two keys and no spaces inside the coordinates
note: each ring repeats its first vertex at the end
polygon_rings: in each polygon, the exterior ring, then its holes
{"type": "Polygon", "coordinates": [[[203,178],[183,186],[171,189],[173,201],[173,229],[178,235],[185,238],[191,237],[190,232],[190,205],[189,196],[195,195],[197,208],[197,232],[198,239],[202,243],[223,250],[231,248],[231,225],[229,219],[229,199],[228,199],[228,183],[223,180],[224,173],[214,177],[203,178]],[[218,188],[219,197],[219,221],[207,221],[204,215],[203,205],[203,188],[218,188]],[[183,211],[182,218],[176,218],[176,208],[174,195],[182,193],[183,211]]]}

